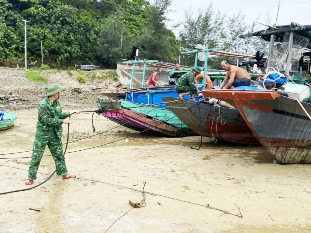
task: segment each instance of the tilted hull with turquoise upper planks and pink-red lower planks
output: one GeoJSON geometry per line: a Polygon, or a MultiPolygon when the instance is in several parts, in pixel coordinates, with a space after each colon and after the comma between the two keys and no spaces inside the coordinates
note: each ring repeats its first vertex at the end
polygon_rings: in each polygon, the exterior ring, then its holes
{"type": "Polygon", "coordinates": [[[97,99],[97,105],[110,110],[103,113],[104,117],[132,130],[141,132],[147,129],[147,133],[172,137],[197,135],[167,108],[139,104],[128,100],[114,102],[97,99]]]}

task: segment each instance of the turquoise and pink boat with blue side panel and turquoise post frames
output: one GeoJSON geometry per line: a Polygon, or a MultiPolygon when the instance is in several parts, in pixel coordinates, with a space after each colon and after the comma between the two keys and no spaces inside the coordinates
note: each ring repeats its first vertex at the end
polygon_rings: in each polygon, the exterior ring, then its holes
{"type": "MultiPolygon", "coordinates": [[[[211,49],[215,50],[215,49],[211,49]]],[[[218,49],[219,50],[219,49],[218,49]]],[[[207,50],[209,51],[208,46],[207,50]]],[[[191,52],[193,53],[193,52],[191,52]]],[[[198,53],[198,50],[195,51],[198,53]]],[[[101,92],[102,95],[109,97],[109,100],[98,99],[98,106],[104,106],[107,109],[114,109],[108,113],[103,113],[105,117],[112,121],[122,124],[128,128],[143,131],[148,129],[148,132],[160,133],[165,136],[185,137],[197,135],[193,130],[189,129],[178,117],[176,117],[165,104],[161,97],[178,97],[178,93],[174,86],[156,86],[146,87],[146,63],[157,63],[157,60],[141,60],[141,61],[128,61],[123,63],[133,63],[132,77],[130,82],[130,90],[128,91],[115,91],[115,92],[101,92]],[[143,72],[135,72],[135,64],[144,63],[143,72]],[[141,88],[132,89],[134,76],[136,74],[142,75],[141,88]],[[124,100],[125,99],[125,100],[124,100]],[[123,109],[123,108],[127,109],[123,109]]],[[[197,64],[197,58],[195,65],[197,64]]],[[[189,71],[183,71],[191,72],[189,71]]],[[[204,77],[207,72],[207,57],[204,63],[204,77]]],[[[217,75],[222,72],[216,72],[217,75]]],[[[181,73],[179,73],[181,75],[181,73]]],[[[202,84],[198,84],[199,90],[202,86],[206,86],[206,79],[202,79],[202,84]]],[[[189,98],[190,95],[184,96],[189,98]]]]}

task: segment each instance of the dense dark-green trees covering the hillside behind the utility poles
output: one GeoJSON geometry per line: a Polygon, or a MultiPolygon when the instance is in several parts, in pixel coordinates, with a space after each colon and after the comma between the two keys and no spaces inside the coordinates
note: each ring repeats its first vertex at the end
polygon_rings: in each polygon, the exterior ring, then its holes
{"type": "Polygon", "coordinates": [[[52,67],[83,63],[111,66],[122,58],[132,58],[136,48],[150,56],[158,45],[146,38],[148,33],[163,40],[169,37],[156,57],[174,61],[178,43],[164,26],[161,17],[165,9],[157,9],[145,0],[0,0],[0,63],[12,67],[23,64],[22,20],[29,21],[27,60],[29,64],[36,61],[35,66],[41,63],[41,41],[44,63],[52,67]]]}

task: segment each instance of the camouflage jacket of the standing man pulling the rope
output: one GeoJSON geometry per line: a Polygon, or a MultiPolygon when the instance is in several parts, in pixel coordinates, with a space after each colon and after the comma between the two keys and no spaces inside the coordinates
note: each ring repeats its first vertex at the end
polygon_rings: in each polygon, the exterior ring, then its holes
{"type": "Polygon", "coordinates": [[[36,137],[52,138],[55,133],[59,138],[63,136],[63,119],[69,117],[69,113],[62,113],[59,101],[54,103],[49,100],[49,97],[42,100],[38,106],[38,122],[36,137]]]}

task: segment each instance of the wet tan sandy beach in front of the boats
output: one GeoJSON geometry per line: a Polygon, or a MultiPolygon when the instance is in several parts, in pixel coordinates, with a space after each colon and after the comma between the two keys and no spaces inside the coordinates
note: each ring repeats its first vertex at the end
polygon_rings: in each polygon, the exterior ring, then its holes
{"type": "MultiPolygon", "coordinates": [[[[0,132],[1,154],[32,150],[37,110],[11,112],[19,115],[16,127],[0,132]]],[[[74,119],[69,141],[94,134],[91,113],[74,119]]],[[[118,126],[97,115],[94,125],[95,133],[118,126]]],[[[273,164],[262,147],[211,138],[203,138],[199,151],[190,147],[198,148],[200,137],[138,134],[127,143],[111,143],[134,133],[121,126],[68,144],[71,152],[109,143],[65,155],[68,172],[76,179],[54,175],[35,189],[0,195],[0,232],[106,232],[115,221],[107,232],[311,231],[310,165],[273,164]],[[144,182],[146,206],[132,209],[128,200],[142,200],[144,182]],[[218,216],[221,211],[206,207],[234,208],[231,212],[238,214],[233,201],[243,218],[218,216]]],[[[63,134],[65,142],[67,125],[63,134]]],[[[48,149],[44,155],[49,155],[48,149]]],[[[30,158],[12,158],[30,156],[31,152],[0,156],[0,193],[29,188],[25,181],[30,158]]],[[[32,186],[54,169],[52,157],[43,157],[32,186]]]]}

